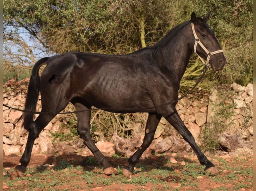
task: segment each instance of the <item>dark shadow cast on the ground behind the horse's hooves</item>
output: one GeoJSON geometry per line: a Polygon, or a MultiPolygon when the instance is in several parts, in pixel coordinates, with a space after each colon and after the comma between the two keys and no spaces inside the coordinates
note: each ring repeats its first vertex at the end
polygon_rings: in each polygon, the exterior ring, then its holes
{"type": "MultiPolygon", "coordinates": [[[[155,156],[150,155],[149,158],[141,158],[138,163],[135,165],[134,174],[138,174],[140,172],[149,172],[153,169],[165,169],[170,172],[175,171],[176,169],[182,170],[184,167],[180,165],[181,161],[185,161],[186,163],[193,163],[192,160],[184,158],[182,156],[176,157],[177,164],[170,164],[168,159],[165,159],[164,156],[155,156]],[[151,156],[151,157],[150,157],[151,156]]],[[[17,156],[19,158],[20,156],[17,156]]],[[[42,157],[41,157],[42,158],[42,157]]],[[[99,165],[98,161],[93,155],[90,156],[82,156],[77,153],[62,153],[62,154],[47,154],[44,157],[45,160],[41,161],[42,163],[38,165],[38,162],[32,162],[28,165],[28,168],[36,168],[33,172],[29,172],[27,169],[27,173],[33,175],[36,173],[43,173],[44,171],[54,170],[59,171],[66,168],[74,168],[78,166],[82,166],[83,171],[91,171],[95,173],[102,173],[102,166],[99,165]]],[[[31,161],[36,161],[36,156],[31,157],[31,161]],[[33,160],[34,158],[34,160],[33,160]]],[[[129,164],[127,157],[124,156],[106,156],[107,161],[113,165],[116,169],[122,169],[129,164]]],[[[16,161],[16,160],[13,160],[16,161]]],[[[3,167],[14,168],[17,164],[14,162],[3,162],[3,167]]],[[[122,174],[121,171],[118,174],[122,174]]],[[[6,174],[6,176],[11,176],[10,174],[6,174]]],[[[14,178],[14,177],[12,177],[14,178]]]]}

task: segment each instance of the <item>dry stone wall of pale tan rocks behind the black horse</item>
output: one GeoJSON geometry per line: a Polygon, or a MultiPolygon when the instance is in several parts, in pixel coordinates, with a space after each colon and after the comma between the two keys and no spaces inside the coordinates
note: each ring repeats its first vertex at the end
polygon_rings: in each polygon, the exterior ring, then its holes
{"type": "MultiPolygon", "coordinates": [[[[16,82],[15,80],[8,81],[3,85],[3,103],[15,108],[23,109],[28,83],[29,79],[24,79],[19,82],[16,82]]],[[[232,116],[230,121],[228,121],[232,125],[226,133],[241,133],[243,138],[248,136],[252,137],[253,85],[248,84],[246,87],[242,87],[233,83],[230,88],[234,95],[227,101],[227,104],[235,103],[235,107],[233,108],[235,114],[232,116]],[[247,123],[245,123],[246,121],[247,123]]],[[[197,137],[205,124],[210,122],[210,116],[214,115],[211,111],[211,107],[213,107],[211,100],[213,102],[218,100],[216,93],[201,93],[197,96],[190,95],[178,101],[178,104],[176,105],[181,119],[196,139],[198,139],[197,137]]],[[[41,110],[40,95],[36,110],[41,110]]],[[[3,150],[7,155],[21,153],[25,149],[28,132],[21,127],[22,121],[19,121],[21,115],[21,111],[9,109],[3,106],[3,150]]],[[[54,133],[63,130],[61,124],[62,122],[59,120],[58,115],[53,118],[35,140],[32,152],[52,153],[56,148],[54,148],[55,144],[53,143],[54,137],[50,132],[54,133]]],[[[165,119],[161,119],[154,136],[155,140],[158,139],[156,142],[163,139],[166,125],[167,121],[165,119]]]]}

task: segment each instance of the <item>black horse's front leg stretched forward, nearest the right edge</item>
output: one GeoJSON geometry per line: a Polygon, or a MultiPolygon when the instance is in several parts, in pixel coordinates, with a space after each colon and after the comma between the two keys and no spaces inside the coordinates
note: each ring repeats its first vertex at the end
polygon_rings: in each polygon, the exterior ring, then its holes
{"type": "Polygon", "coordinates": [[[207,157],[200,150],[198,145],[196,144],[195,138],[191,134],[191,132],[187,129],[181,118],[179,117],[176,109],[165,117],[165,119],[181,134],[185,141],[192,147],[194,152],[196,153],[200,164],[205,165],[205,171],[211,174],[218,174],[218,170],[215,165],[210,162],[207,157]]]}

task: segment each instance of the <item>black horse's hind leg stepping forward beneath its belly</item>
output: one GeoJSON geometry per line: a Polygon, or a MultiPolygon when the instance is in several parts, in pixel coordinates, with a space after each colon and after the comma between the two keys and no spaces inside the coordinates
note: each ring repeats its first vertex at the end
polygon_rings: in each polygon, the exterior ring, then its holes
{"type": "MultiPolygon", "coordinates": [[[[72,103],[75,105],[77,110],[85,110],[85,109],[91,108],[91,106],[86,107],[84,104],[80,102],[72,101],[72,103]]],[[[117,174],[116,169],[112,167],[112,165],[106,160],[104,155],[101,153],[101,151],[97,148],[97,146],[92,141],[91,134],[90,134],[91,111],[78,113],[77,118],[78,118],[77,132],[80,135],[80,137],[84,140],[85,145],[94,154],[98,162],[103,165],[104,174],[106,175],[117,174]]]]}

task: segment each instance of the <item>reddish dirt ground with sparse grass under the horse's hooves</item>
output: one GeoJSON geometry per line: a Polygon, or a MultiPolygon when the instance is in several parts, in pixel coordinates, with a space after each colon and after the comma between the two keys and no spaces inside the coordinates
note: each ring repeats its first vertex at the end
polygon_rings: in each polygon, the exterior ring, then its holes
{"type": "MultiPolygon", "coordinates": [[[[31,157],[31,161],[29,163],[28,168],[38,167],[44,164],[50,165],[59,165],[60,161],[67,161],[71,163],[73,166],[81,165],[83,166],[83,170],[69,170],[64,169],[62,171],[54,171],[52,169],[50,174],[55,176],[62,176],[59,173],[63,173],[68,171],[67,174],[74,173],[74,180],[69,181],[71,183],[65,184],[64,182],[61,184],[53,185],[52,188],[31,188],[29,184],[26,182],[26,178],[31,178],[31,176],[35,176],[35,174],[26,174],[27,177],[23,177],[22,179],[17,179],[16,177],[12,177],[13,168],[19,163],[21,155],[10,155],[3,156],[3,167],[4,167],[4,176],[7,178],[4,179],[4,187],[3,190],[253,190],[253,182],[252,182],[252,168],[253,161],[252,156],[233,156],[226,153],[219,154],[209,154],[208,158],[216,165],[219,170],[219,174],[216,176],[210,176],[203,173],[204,167],[199,165],[199,161],[197,157],[192,153],[166,153],[165,155],[151,155],[148,159],[139,160],[137,166],[144,166],[145,168],[141,172],[135,172],[133,177],[130,179],[131,181],[139,178],[139,176],[143,175],[145,177],[148,175],[149,171],[157,168],[167,167],[166,159],[175,159],[172,163],[169,164],[169,172],[167,176],[161,176],[159,174],[154,175],[158,180],[165,182],[165,187],[161,183],[152,183],[150,181],[145,184],[138,185],[138,183],[118,183],[115,181],[111,184],[90,184],[90,189],[82,189],[84,188],[88,182],[79,181],[79,174],[83,174],[87,171],[95,172],[99,178],[105,178],[108,180],[111,176],[106,176],[103,173],[99,173],[100,167],[97,164],[90,163],[91,158],[87,156],[82,156],[76,153],[73,154],[61,154],[61,155],[52,155],[52,154],[34,154],[31,157]],[[175,162],[176,161],[176,162],[175,162]],[[89,162],[89,163],[88,163],[89,162]],[[190,166],[194,165],[193,168],[188,168],[186,164],[190,166]],[[97,170],[98,169],[98,170],[97,170]],[[184,178],[185,173],[188,171],[195,171],[194,175],[190,175],[190,183],[182,183],[182,177],[184,178]],[[246,170],[247,169],[247,170],[246,170]],[[251,169],[251,170],[248,170],[251,169]],[[19,181],[15,181],[19,180],[19,181]],[[7,181],[14,181],[15,186],[7,185],[7,181]],[[72,182],[76,182],[76,188],[72,186],[72,182]],[[78,185],[81,184],[81,185],[78,185]],[[20,185],[20,187],[19,187],[20,185]],[[166,186],[168,186],[166,189],[166,186]]],[[[110,161],[115,168],[122,168],[128,164],[127,158],[124,157],[107,157],[107,160],[110,161]]],[[[38,175],[37,175],[38,176],[38,175]]],[[[113,176],[113,175],[112,175],[113,176]]],[[[116,175],[122,177],[122,174],[116,175]]],[[[123,178],[123,177],[122,177],[123,178]]],[[[70,179],[70,177],[69,177],[70,179]]],[[[56,178],[58,180],[58,178],[56,178]]],[[[112,179],[111,179],[112,180],[112,179]]],[[[129,180],[128,180],[129,181],[129,180]]],[[[43,183],[43,181],[42,181],[43,183]]]]}

